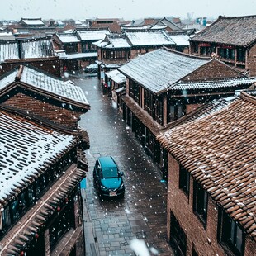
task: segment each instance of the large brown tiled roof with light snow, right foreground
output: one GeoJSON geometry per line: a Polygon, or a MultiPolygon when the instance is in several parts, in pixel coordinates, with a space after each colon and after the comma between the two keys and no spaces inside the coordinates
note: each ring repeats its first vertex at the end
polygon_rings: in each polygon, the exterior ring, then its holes
{"type": "Polygon", "coordinates": [[[241,92],[228,107],[158,137],[160,144],[254,240],[255,116],[256,98],[241,92]]]}

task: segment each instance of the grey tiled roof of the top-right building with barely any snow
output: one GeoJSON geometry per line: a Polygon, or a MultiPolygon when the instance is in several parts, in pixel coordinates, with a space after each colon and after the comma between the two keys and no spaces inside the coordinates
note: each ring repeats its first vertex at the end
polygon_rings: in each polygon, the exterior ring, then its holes
{"type": "Polygon", "coordinates": [[[227,45],[249,45],[256,40],[256,15],[246,17],[220,16],[191,40],[227,45]]]}

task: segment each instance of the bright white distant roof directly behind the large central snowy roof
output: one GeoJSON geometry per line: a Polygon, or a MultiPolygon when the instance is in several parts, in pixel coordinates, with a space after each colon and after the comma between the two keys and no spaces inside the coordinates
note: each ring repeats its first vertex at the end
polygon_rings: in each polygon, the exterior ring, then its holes
{"type": "Polygon", "coordinates": [[[131,45],[174,45],[165,31],[126,31],[131,45]]]}

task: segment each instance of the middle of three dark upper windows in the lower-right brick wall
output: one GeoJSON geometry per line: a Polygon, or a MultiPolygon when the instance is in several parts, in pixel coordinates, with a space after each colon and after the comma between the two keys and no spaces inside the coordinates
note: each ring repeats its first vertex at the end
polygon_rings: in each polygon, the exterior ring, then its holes
{"type": "Polygon", "coordinates": [[[193,210],[197,214],[199,220],[206,226],[207,216],[207,202],[208,195],[205,189],[201,187],[201,184],[194,181],[194,201],[193,210]]]}

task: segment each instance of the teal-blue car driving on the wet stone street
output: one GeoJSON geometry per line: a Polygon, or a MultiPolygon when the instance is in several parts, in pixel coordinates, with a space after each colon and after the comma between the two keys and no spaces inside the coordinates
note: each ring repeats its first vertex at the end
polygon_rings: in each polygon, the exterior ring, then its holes
{"type": "Polygon", "coordinates": [[[122,176],[123,173],[111,156],[102,156],[96,160],[93,179],[100,197],[124,197],[125,185],[122,176]]]}

